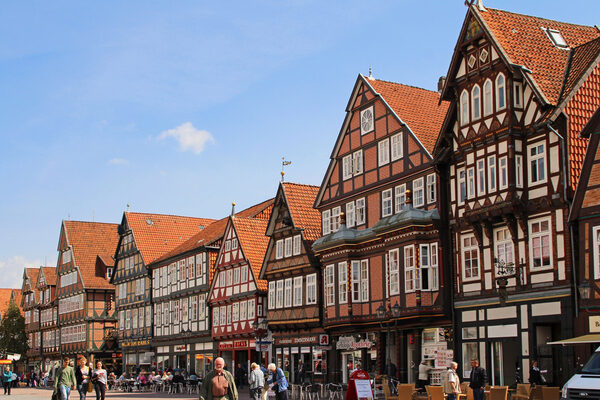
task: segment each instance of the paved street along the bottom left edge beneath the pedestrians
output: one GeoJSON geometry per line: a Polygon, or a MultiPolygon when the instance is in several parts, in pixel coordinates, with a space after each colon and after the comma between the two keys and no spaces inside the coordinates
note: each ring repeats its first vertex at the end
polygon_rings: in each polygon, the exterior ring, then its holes
{"type": "MultiPolygon", "coordinates": [[[[0,391],[0,393],[3,393],[0,391]]],[[[52,396],[50,389],[31,389],[31,388],[17,388],[13,389],[11,396],[17,399],[27,400],[48,400],[52,396]]],[[[7,397],[0,394],[0,397],[7,397]]],[[[96,399],[96,393],[88,393],[87,398],[89,400],[96,399]]],[[[107,392],[106,398],[110,400],[130,400],[130,399],[180,399],[180,400],[193,400],[198,399],[198,395],[187,395],[187,394],[169,394],[169,393],[123,393],[123,392],[107,392]]],[[[240,400],[248,400],[250,398],[247,388],[242,389],[240,392],[240,400]]],[[[71,395],[71,400],[78,400],[79,393],[75,392],[71,395]]]]}

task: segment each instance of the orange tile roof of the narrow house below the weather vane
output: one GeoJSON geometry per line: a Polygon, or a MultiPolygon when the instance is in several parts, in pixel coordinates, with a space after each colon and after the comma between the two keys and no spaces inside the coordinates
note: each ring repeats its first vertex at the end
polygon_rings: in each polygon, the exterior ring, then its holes
{"type": "Polygon", "coordinates": [[[284,182],[285,198],[296,228],[304,229],[304,238],[315,241],[321,237],[321,213],[313,208],[319,186],[284,182]]]}

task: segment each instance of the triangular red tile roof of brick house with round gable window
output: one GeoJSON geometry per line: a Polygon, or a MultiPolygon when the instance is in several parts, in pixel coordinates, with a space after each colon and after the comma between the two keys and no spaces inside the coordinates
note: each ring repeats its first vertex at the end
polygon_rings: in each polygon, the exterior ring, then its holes
{"type": "Polygon", "coordinates": [[[431,90],[374,78],[365,78],[365,81],[408,125],[423,147],[433,154],[450,103],[440,103],[440,94],[431,90]]]}

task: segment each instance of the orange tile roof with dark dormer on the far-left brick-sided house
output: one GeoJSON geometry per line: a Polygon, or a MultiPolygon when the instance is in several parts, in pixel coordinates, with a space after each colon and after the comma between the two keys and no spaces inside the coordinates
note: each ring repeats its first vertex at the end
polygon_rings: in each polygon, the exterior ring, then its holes
{"type": "Polygon", "coordinates": [[[96,273],[96,260],[98,256],[112,260],[119,240],[119,225],[85,221],[63,221],[63,224],[83,286],[86,289],[114,289],[104,275],[96,273]]]}

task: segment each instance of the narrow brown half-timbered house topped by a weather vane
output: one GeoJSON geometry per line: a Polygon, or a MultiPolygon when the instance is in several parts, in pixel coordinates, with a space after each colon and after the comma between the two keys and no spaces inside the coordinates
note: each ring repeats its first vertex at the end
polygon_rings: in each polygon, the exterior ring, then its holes
{"type": "Polygon", "coordinates": [[[279,185],[259,276],[268,282],[267,321],[276,363],[298,384],[299,362],[305,379],[323,381],[323,369],[313,366],[327,354],[320,344],[328,339],[321,326],[321,268],[311,249],[321,236],[321,214],[313,208],[318,190],[291,182],[279,185]]]}

